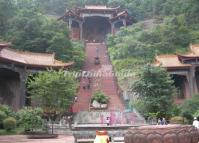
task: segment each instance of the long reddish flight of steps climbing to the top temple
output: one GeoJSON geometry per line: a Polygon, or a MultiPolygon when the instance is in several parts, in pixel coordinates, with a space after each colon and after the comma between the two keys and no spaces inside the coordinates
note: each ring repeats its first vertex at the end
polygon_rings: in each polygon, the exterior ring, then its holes
{"type": "Polygon", "coordinates": [[[102,77],[91,77],[90,90],[83,89],[87,78],[81,78],[80,88],[77,94],[77,102],[73,106],[73,112],[89,111],[91,96],[97,91],[101,90],[109,97],[108,110],[124,110],[124,104],[119,97],[118,84],[114,76],[104,76],[107,73],[112,73],[113,68],[109,60],[107,47],[104,43],[87,43],[86,44],[86,60],[83,71],[101,72],[102,77]],[[100,64],[94,64],[94,58],[100,58],[100,64]]]}

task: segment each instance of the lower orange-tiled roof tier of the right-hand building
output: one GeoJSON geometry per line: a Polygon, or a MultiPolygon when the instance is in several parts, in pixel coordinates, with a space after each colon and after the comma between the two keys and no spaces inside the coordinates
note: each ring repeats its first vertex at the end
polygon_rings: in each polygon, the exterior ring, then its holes
{"type": "Polygon", "coordinates": [[[177,55],[160,55],[156,57],[156,66],[161,66],[165,68],[172,67],[189,67],[190,64],[183,64],[179,61],[177,55]]]}

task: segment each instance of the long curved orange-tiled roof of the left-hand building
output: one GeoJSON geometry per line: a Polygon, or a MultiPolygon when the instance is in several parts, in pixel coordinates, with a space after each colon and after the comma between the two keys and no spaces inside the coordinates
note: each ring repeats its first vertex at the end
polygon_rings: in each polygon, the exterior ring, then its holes
{"type": "Polygon", "coordinates": [[[73,65],[73,62],[64,63],[56,60],[54,53],[18,51],[9,48],[9,45],[7,44],[0,44],[0,61],[14,62],[19,65],[41,68],[67,68],[73,65]]]}

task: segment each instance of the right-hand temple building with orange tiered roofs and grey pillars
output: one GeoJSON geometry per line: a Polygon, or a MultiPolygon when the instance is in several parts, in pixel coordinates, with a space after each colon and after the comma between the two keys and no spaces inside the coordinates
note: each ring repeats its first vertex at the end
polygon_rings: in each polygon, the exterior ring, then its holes
{"type": "Polygon", "coordinates": [[[155,65],[166,68],[173,78],[178,91],[176,103],[199,93],[199,45],[190,45],[187,54],[157,56],[155,65]]]}

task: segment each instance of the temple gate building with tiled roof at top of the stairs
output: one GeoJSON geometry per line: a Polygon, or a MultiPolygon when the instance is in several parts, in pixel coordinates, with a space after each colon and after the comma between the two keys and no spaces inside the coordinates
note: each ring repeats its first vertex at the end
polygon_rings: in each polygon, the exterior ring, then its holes
{"type": "Polygon", "coordinates": [[[68,10],[58,20],[68,23],[71,39],[88,42],[103,42],[108,33],[114,34],[120,27],[132,24],[127,11],[99,5],[68,10]]]}

